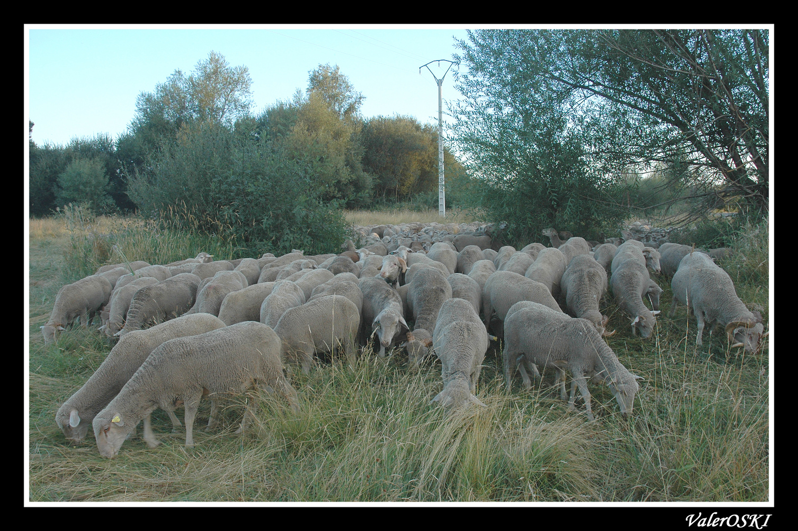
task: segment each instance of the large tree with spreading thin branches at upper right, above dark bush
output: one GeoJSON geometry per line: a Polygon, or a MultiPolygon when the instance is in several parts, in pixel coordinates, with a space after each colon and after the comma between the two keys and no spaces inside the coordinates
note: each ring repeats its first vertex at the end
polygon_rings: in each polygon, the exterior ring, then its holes
{"type": "Polygon", "coordinates": [[[458,45],[464,149],[495,142],[508,158],[553,118],[579,138],[591,180],[658,165],[697,180],[697,195],[767,211],[767,31],[478,30],[469,40],[458,45]]]}

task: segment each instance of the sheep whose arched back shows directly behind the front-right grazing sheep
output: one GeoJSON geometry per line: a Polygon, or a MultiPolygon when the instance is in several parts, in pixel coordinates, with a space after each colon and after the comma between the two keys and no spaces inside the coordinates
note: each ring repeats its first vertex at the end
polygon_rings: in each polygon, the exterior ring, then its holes
{"type": "Polygon", "coordinates": [[[512,271],[496,271],[488,277],[482,291],[482,313],[485,319],[485,328],[489,329],[494,315],[504,321],[507,311],[519,300],[542,303],[554,311],[562,312],[557,301],[551,296],[551,292],[542,283],[527,279],[527,277],[512,271]]]}

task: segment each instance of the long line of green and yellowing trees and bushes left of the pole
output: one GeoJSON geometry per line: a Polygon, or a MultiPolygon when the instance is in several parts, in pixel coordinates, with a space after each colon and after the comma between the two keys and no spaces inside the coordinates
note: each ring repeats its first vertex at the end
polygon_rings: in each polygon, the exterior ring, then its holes
{"type": "MultiPolygon", "coordinates": [[[[100,214],[138,210],[290,251],[302,244],[297,233],[337,231],[342,207],[418,194],[437,205],[437,128],[413,117],[366,120],[364,99],[337,65],[319,65],[306,90],[252,113],[247,67],[211,52],[192,73],[176,70],[140,93],[116,140],[31,141],[30,213],[69,202],[100,214]]],[[[449,182],[466,178],[448,151],[444,164],[449,182]]]]}

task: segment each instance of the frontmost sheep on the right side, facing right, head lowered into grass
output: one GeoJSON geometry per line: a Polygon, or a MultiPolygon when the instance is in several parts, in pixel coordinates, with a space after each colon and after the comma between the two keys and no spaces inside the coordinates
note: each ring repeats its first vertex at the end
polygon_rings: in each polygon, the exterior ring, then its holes
{"type": "MultiPolygon", "coordinates": [[[[591,394],[587,378],[602,378],[614,394],[624,418],[632,414],[634,394],[639,390],[638,379],[618,361],[618,356],[601,339],[599,332],[585,319],[576,319],[558,313],[542,304],[523,303],[512,308],[504,323],[504,378],[508,389],[520,356],[527,367],[552,367],[559,373],[570,371],[571,396],[568,406],[575,408],[576,387],[585,402],[587,418],[595,420],[591,410],[591,394]]],[[[525,373],[522,372],[522,376],[525,373]]],[[[562,381],[559,376],[557,381],[562,381]]],[[[528,378],[524,385],[529,389],[528,378]]],[[[563,388],[561,388],[564,390],[563,388]]],[[[560,398],[563,397],[561,392],[560,398]]]]}

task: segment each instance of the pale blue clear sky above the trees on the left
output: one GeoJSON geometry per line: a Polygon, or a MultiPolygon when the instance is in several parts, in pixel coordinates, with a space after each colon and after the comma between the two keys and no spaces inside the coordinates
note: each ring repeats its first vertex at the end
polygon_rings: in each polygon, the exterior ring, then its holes
{"type": "MultiPolygon", "coordinates": [[[[449,66],[464,28],[445,26],[26,26],[26,113],[33,140],[65,145],[73,137],[124,133],[136,97],[180,69],[191,73],[211,50],[231,66],[247,66],[254,110],[307,88],[318,65],[338,65],[365,96],[363,117],[415,117],[437,123],[436,77],[449,66]]],[[[455,68],[452,66],[452,69],[455,68]]],[[[459,93],[452,73],[446,102],[459,93]]],[[[444,116],[444,121],[446,117],[444,116]]],[[[27,130],[26,130],[27,134],[27,130]]]]}

